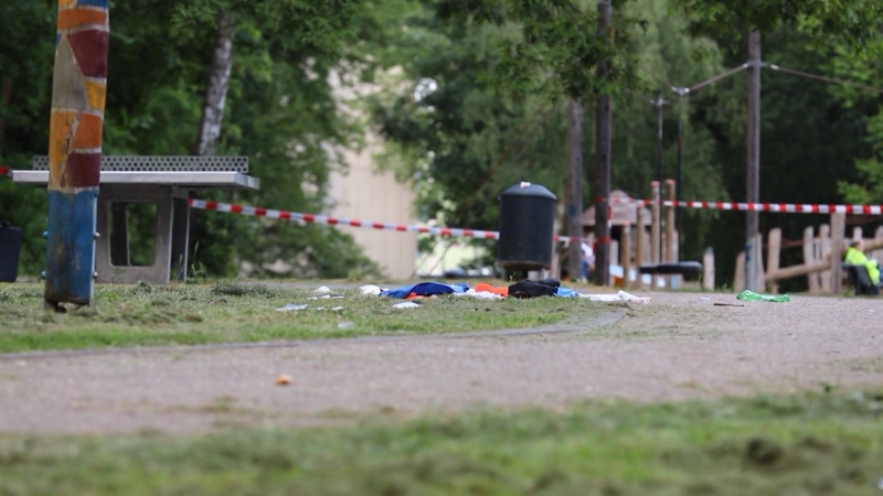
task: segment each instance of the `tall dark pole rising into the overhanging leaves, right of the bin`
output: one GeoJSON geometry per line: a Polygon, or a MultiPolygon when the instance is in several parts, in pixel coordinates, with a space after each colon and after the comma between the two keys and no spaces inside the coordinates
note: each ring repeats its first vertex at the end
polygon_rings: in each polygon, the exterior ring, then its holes
{"type": "MultiPolygon", "coordinates": [[[[598,0],[598,36],[613,43],[610,32],[610,0],[598,0]]],[[[608,77],[607,60],[598,58],[598,79],[608,77]]],[[[609,283],[610,272],[610,96],[598,96],[595,119],[595,281],[609,283]]]]}

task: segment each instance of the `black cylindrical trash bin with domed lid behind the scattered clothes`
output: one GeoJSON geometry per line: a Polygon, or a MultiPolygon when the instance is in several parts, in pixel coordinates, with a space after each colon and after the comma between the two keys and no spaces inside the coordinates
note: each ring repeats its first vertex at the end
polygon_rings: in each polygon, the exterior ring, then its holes
{"type": "Polygon", "coordinates": [[[552,267],[557,197],[539,184],[520,183],[500,193],[497,263],[508,271],[552,267]]]}

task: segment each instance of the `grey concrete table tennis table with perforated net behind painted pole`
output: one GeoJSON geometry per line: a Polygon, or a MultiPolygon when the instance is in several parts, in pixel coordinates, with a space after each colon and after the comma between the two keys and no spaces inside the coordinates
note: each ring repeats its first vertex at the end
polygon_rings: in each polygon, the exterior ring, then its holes
{"type": "MultiPolygon", "coordinates": [[[[247,172],[247,157],[102,157],[96,281],[167,284],[172,269],[175,279],[185,280],[188,196],[195,190],[258,190],[260,181],[247,172]],[[126,208],[131,204],[156,205],[150,266],[132,266],[129,260],[126,208]]],[[[34,157],[33,170],[13,171],[12,181],[45,187],[49,158],[34,157]]]]}

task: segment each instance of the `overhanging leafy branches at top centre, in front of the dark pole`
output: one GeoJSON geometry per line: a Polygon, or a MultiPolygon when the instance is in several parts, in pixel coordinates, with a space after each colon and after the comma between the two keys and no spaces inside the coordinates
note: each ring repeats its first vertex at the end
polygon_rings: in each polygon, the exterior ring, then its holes
{"type": "MultiPolygon", "coordinates": [[[[494,87],[515,99],[542,94],[552,98],[621,94],[638,78],[631,54],[623,50],[636,26],[646,23],[614,11],[613,26],[598,32],[595,2],[571,0],[438,0],[433,4],[445,21],[511,26],[497,40],[499,61],[487,73],[494,87]],[[595,64],[607,61],[607,76],[595,64]]],[[[618,4],[625,2],[616,2],[618,4]]]]}

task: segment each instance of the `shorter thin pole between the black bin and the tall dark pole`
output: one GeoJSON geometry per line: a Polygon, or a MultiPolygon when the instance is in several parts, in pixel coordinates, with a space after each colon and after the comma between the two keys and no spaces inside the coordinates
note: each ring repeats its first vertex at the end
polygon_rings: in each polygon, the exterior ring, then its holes
{"type": "MultiPolygon", "coordinates": [[[[583,106],[571,100],[567,106],[567,234],[583,238],[583,106]]],[[[582,242],[571,239],[567,272],[572,281],[582,279],[582,242]]]]}

